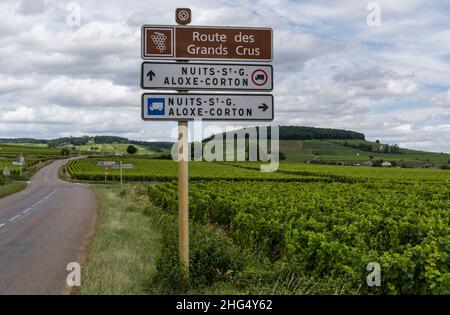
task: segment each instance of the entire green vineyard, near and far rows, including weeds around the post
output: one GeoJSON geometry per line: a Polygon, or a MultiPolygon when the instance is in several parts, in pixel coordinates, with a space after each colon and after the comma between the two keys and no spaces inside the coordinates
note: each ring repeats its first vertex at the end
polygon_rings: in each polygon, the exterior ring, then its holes
{"type": "MultiPolygon", "coordinates": [[[[67,171],[104,180],[101,160],[76,160],[67,171]]],[[[450,171],[282,163],[262,173],[256,162],[190,162],[193,279],[180,287],[177,164],[123,162],[135,165],[127,180],[154,182],[149,200],[166,222],[151,277],[159,292],[450,293],[450,171]],[[366,285],[370,262],[381,265],[380,288],[366,285]]],[[[118,180],[118,170],[108,173],[118,180]]]]}

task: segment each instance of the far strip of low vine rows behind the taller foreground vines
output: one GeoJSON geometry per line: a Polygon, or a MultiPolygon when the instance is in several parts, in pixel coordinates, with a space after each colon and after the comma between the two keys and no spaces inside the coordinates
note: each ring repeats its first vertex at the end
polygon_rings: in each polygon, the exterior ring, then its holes
{"type": "MultiPolygon", "coordinates": [[[[177,179],[177,163],[172,160],[156,160],[139,156],[105,157],[74,160],[68,164],[67,172],[73,179],[104,180],[104,167],[98,166],[100,161],[122,161],[133,164],[133,169],[123,171],[123,178],[129,181],[171,181],[177,179]]],[[[367,180],[423,180],[447,181],[450,172],[440,169],[419,168],[378,168],[332,166],[297,163],[280,163],[279,171],[274,173],[260,172],[260,162],[190,162],[189,176],[191,180],[269,180],[269,181],[340,181],[355,182],[367,180]]],[[[108,168],[108,180],[120,180],[118,169],[108,168]]]]}

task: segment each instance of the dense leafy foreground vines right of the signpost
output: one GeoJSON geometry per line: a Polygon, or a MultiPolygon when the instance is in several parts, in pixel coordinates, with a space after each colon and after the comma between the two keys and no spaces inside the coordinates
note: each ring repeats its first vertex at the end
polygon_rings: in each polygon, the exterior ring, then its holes
{"type": "MultiPolygon", "coordinates": [[[[365,169],[364,177],[352,168],[334,167],[333,174],[329,167],[287,169],[281,174],[317,180],[191,183],[192,221],[219,227],[261,260],[298,268],[315,279],[349,279],[348,286],[361,292],[450,293],[448,172],[365,169]],[[324,176],[331,181],[324,182],[324,176]],[[372,291],[366,285],[370,262],[382,268],[382,287],[372,291]]],[[[155,184],[149,195],[176,215],[176,191],[176,182],[155,184]]]]}

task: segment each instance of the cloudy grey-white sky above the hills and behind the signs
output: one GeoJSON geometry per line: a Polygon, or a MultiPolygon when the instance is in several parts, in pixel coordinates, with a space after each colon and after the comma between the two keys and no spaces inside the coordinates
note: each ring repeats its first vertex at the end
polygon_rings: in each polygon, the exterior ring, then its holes
{"type": "Polygon", "coordinates": [[[171,139],[140,118],[140,27],[188,6],[195,25],[274,29],[274,123],[450,152],[450,3],[371,2],[2,0],[0,138],[171,139]]]}

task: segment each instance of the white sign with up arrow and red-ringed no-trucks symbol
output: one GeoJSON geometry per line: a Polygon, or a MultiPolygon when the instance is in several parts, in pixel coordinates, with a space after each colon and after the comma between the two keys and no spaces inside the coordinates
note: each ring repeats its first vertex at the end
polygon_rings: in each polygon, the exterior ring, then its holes
{"type": "Polygon", "coordinates": [[[144,62],[143,89],[271,91],[271,65],[144,62]]]}

